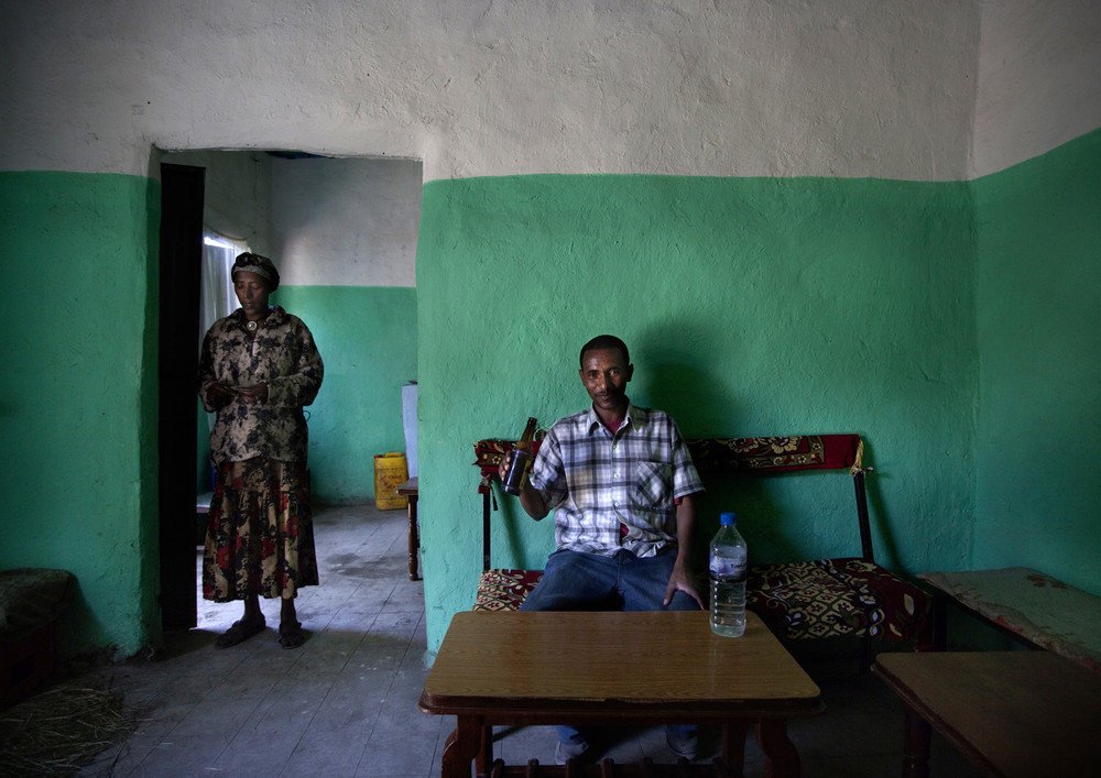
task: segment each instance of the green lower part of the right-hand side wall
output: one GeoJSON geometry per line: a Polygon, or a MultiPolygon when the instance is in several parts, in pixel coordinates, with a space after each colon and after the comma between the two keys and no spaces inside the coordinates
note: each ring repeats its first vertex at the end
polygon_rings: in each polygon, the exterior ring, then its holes
{"type": "Polygon", "coordinates": [[[1101,594],[1101,131],[974,183],[975,567],[1101,594]]]}

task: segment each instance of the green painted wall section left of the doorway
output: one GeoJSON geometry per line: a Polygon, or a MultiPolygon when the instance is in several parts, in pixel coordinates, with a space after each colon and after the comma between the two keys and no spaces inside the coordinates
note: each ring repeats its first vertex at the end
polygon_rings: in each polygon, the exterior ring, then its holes
{"type": "Polygon", "coordinates": [[[73,655],[159,635],[160,186],[0,173],[0,566],[63,568],[73,655]]]}

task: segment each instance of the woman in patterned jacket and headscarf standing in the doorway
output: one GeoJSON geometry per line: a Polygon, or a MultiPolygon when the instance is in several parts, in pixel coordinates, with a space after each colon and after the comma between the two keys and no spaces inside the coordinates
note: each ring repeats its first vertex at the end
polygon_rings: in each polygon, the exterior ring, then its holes
{"type": "Polygon", "coordinates": [[[203,559],[203,598],[244,601],[244,615],[218,637],[226,648],[263,631],[260,598],[280,598],[279,640],[305,639],[294,599],[317,585],[307,430],[325,368],[306,325],[268,298],[279,272],[266,256],[233,263],[241,307],[203,341],[199,396],[218,420],[210,431],[215,493],[203,559]]]}

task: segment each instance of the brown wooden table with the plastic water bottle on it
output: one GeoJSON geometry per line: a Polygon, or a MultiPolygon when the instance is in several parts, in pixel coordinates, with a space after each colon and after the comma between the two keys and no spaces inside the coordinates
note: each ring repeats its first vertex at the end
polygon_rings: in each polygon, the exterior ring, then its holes
{"type": "Polygon", "coordinates": [[[421,694],[457,716],[443,777],[492,764],[494,725],[722,725],[722,757],[741,775],[756,725],[768,775],[795,776],[786,720],[822,710],[820,691],[755,614],[745,635],[711,633],[704,611],[460,612],[421,694]]]}

